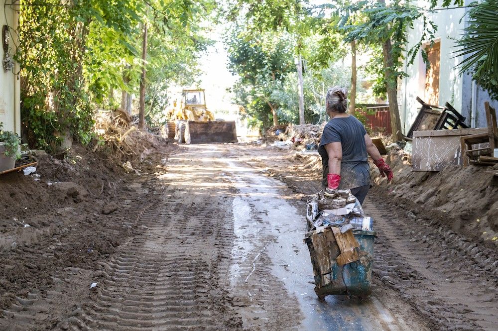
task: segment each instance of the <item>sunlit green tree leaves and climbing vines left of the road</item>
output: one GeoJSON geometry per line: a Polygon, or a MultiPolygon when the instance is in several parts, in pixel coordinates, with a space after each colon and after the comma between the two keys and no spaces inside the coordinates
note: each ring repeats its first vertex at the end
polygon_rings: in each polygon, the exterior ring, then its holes
{"type": "Polygon", "coordinates": [[[55,151],[67,132],[90,141],[94,110],[114,107],[115,90],[137,91],[145,23],[147,107],[164,109],[168,82],[186,82],[195,74],[209,44],[202,24],[214,8],[214,0],[24,1],[15,59],[31,147],[55,151]]]}

